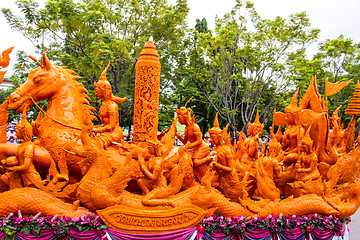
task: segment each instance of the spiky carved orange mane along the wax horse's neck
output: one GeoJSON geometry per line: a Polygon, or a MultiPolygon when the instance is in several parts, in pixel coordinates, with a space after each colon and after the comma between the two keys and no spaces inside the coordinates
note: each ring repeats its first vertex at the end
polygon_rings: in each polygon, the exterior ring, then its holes
{"type": "Polygon", "coordinates": [[[63,75],[67,81],[71,81],[76,88],[77,92],[79,93],[79,96],[77,100],[84,105],[84,117],[88,118],[89,120],[96,119],[94,112],[95,108],[90,106],[89,100],[90,97],[87,95],[89,92],[86,90],[84,85],[82,83],[79,83],[77,80],[81,79],[81,77],[74,75],[75,72],[71,69],[67,69],[65,66],[56,66],[52,65],[60,75],[63,75]]]}

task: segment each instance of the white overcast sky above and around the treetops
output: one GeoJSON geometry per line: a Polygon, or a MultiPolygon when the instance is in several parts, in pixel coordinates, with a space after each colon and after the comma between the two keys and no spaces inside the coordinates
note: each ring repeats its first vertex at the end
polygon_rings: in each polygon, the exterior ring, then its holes
{"type": "MultiPolygon", "coordinates": [[[[0,8],[16,9],[16,0],[0,0],[0,8]]],[[[176,0],[169,0],[174,3],[176,0]]],[[[45,0],[38,0],[43,5],[45,0]]],[[[287,18],[290,14],[306,11],[312,27],[319,28],[320,41],[337,38],[343,34],[354,42],[360,42],[360,0],[252,0],[255,9],[262,18],[273,19],[276,16],[287,18]]],[[[235,5],[235,0],[188,0],[190,13],[188,23],[195,26],[196,18],[206,18],[210,28],[214,27],[215,17],[222,17],[235,5]]],[[[15,51],[23,50],[27,54],[36,55],[31,42],[21,34],[13,32],[7,25],[5,18],[0,13],[0,51],[15,46],[15,51]]],[[[313,46],[316,49],[316,46],[313,46]]],[[[11,62],[7,68],[9,76],[12,73],[11,62]]]]}

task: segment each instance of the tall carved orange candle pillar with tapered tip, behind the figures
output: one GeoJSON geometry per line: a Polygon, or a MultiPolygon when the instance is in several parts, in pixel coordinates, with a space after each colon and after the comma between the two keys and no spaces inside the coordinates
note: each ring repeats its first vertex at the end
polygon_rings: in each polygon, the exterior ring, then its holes
{"type": "Polygon", "coordinates": [[[160,61],[151,39],[136,63],[133,141],[157,140],[160,61]]]}

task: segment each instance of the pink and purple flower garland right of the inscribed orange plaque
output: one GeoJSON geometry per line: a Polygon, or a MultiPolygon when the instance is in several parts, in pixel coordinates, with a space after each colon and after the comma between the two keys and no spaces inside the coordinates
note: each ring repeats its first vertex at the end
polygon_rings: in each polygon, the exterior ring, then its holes
{"type": "Polygon", "coordinates": [[[254,229],[269,229],[271,232],[284,233],[287,230],[291,232],[295,227],[299,227],[303,233],[311,232],[314,228],[319,230],[334,230],[340,234],[344,224],[351,221],[350,217],[340,219],[332,215],[320,216],[304,215],[304,216],[271,216],[245,218],[239,217],[223,217],[221,214],[203,219],[198,229],[202,232],[213,234],[215,231],[223,232],[226,235],[238,234],[245,231],[253,231],[254,229]]]}

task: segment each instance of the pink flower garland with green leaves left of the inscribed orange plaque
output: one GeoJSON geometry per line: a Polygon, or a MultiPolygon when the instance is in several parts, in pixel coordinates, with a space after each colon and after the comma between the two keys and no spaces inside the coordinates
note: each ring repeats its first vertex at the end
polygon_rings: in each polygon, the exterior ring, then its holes
{"type": "Polygon", "coordinates": [[[70,228],[75,228],[80,232],[89,230],[104,230],[108,227],[99,216],[82,216],[82,217],[58,217],[41,216],[39,212],[35,216],[23,218],[21,211],[17,216],[10,213],[7,217],[0,217],[0,231],[6,235],[13,236],[17,232],[26,235],[41,235],[43,229],[52,229],[57,237],[69,235],[70,228]]]}

